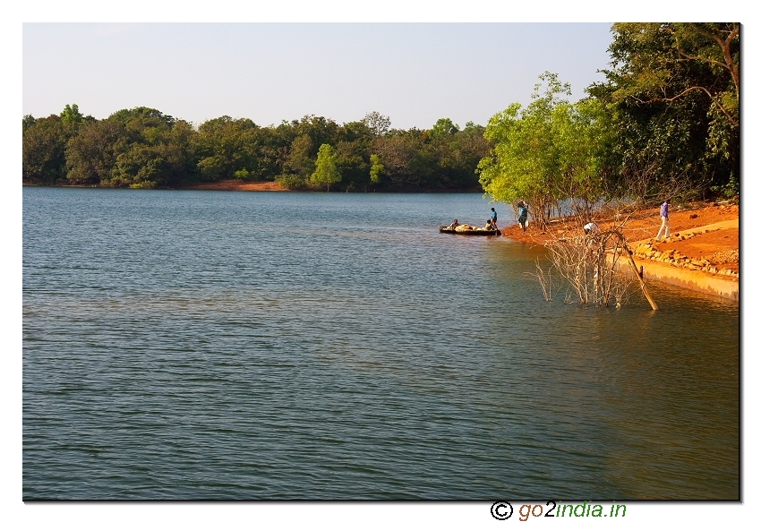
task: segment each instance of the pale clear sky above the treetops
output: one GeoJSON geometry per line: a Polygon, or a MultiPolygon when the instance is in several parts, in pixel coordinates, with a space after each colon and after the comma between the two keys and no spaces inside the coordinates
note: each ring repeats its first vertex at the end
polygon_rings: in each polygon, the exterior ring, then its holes
{"type": "Polygon", "coordinates": [[[396,128],[486,124],[544,71],[584,96],[611,23],[24,23],[23,113],[154,107],[201,124],[377,110],[396,128]]]}

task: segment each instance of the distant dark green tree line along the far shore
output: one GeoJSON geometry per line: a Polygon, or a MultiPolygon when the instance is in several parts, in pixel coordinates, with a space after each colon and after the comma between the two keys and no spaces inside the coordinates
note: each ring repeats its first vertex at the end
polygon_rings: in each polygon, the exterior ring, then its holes
{"type": "Polygon", "coordinates": [[[149,107],[105,119],[60,115],[23,118],[23,180],[159,188],[240,179],[277,181],[288,189],[471,191],[489,150],[483,126],[460,129],[441,118],[431,129],[390,128],[368,113],[337,124],[323,116],[261,126],[221,116],[195,128],[149,107]]]}

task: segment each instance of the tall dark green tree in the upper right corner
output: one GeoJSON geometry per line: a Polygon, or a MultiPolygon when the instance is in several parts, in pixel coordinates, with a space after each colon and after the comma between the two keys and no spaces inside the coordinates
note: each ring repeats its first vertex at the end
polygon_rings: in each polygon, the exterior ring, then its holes
{"type": "Polygon", "coordinates": [[[738,175],[739,24],[616,23],[612,32],[606,81],[587,89],[615,113],[611,171],[646,176],[648,193],[702,192],[738,175]]]}

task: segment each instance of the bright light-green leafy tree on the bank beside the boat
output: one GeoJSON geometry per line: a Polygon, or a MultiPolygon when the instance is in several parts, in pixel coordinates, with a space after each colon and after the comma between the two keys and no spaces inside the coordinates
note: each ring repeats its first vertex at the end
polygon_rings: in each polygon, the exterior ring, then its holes
{"type": "Polygon", "coordinates": [[[599,103],[570,104],[568,83],[554,73],[539,78],[528,107],[514,103],[492,116],[484,131],[492,152],[478,171],[487,194],[509,204],[526,200],[543,226],[560,201],[588,215],[603,195],[597,155],[605,133],[599,103]]]}

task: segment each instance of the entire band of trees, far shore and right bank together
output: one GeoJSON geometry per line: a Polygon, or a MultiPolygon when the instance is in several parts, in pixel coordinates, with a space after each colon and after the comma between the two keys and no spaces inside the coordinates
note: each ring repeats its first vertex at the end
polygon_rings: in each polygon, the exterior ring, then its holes
{"type": "Polygon", "coordinates": [[[543,73],[527,107],[484,128],[441,118],[392,129],[368,113],[337,124],[304,116],[275,126],[221,116],[198,127],[136,107],[98,120],[77,105],[24,116],[23,182],[182,187],[277,181],[295,190],[471,191],[523,199],[547,216],[601,198],[731,197],[740,191],[740,25],[616,23],[605,81],[570,103],[543,73]]]}

